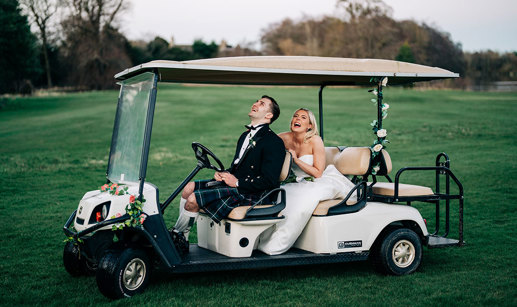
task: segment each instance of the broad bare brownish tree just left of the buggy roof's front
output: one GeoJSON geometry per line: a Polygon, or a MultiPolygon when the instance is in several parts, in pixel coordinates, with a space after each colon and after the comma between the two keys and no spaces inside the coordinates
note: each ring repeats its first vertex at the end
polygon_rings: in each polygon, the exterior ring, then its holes
{"type": "Polygon", "coordinates": [[[66,0],[62,22],[69,82],[89,89],[115,86],[113,75],[131,65],[127,39],[115,27],[124,0],[66,0]]]}

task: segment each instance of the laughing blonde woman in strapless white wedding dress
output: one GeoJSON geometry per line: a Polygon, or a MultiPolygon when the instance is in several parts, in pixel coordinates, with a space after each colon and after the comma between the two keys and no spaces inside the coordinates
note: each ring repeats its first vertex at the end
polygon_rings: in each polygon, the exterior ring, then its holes
{"type": "Polygon", "coordinates": [[[291,131],[280,133],[293,157],[296,182],[282,187],[286,191],[285,218],[260,237],[258,249],[269,255],[286,252],[302,233],[320,201],[345,197],[354,184],[333,165],[325,168],[325,146],[318,135],[314,114],[298,109],[291,120],[291,131]]]}

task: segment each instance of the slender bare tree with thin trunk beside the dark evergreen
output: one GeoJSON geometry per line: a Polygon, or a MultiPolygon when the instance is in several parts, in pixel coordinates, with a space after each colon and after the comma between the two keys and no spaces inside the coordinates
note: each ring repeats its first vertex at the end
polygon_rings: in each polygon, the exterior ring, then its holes
{"type": "Polygon", "coordinates": [[[49,62],[49,24],[52,16],[57,11],[57,3],[54,0],[21,0],[29,13],[30,19],[37,25],[41,39],[41,51],[47,76],[47,87],[52,87],[52,77],[50,74],[49,62]]]}

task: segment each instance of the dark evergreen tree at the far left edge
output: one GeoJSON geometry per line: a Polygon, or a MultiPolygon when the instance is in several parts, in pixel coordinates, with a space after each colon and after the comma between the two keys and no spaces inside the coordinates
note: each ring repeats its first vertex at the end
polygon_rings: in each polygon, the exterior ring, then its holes
{"type": "Polygon", "coordinates": [[[0,1],[0,93],[19,92],[40,71],[36,37],[17,0],[0,1]]]}

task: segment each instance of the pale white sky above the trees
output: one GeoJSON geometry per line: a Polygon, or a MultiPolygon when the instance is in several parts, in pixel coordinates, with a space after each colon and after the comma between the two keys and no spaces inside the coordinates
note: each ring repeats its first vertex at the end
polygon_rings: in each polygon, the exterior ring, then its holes
{"type": "MultiPolygon", "coordinates": [[[[384,0],[396,20],[448,32],[464,51],[517,51],[517,0],[384,0]]],[[[121,30],[131,40],[160,36],[260,48],[261,31],[284,18],[336,14],[336,0],[130,0],[121,30]]]]}

